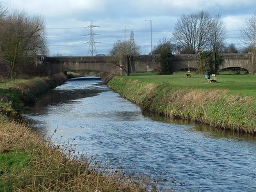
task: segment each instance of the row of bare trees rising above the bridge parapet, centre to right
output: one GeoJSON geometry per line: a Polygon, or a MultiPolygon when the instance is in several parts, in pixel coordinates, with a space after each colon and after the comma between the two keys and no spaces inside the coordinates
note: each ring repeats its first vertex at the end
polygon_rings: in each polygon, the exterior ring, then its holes
{"type": "MultiPolygon", "coordinates": [[[[177,19],[172,36],[159,39],[158,44],[149,54],[161,54],[163,48],[168,48],[171,52],[182,54],[195,54],[200,51],[213,51],[222,53],[238,53],[254,51],[256,44],[256,12],[252,18],[245,20],[245,28],[241,29],[242,42],[246,47],[238,49],[236,45],[226,45],[226,26],[221,19],[221,15],[211,16],[208,12],[183,14],[177,19]]],[[[129,48],[125,52],[140,54],[138,45],[131,46],[129,41],[113,45],[109,51],[110,55],[118,49],[129,48]],[[127,45],[126,45],[127,44],[127,45]],[[130,45],[128,45],[130,44],[130,45]]]]}

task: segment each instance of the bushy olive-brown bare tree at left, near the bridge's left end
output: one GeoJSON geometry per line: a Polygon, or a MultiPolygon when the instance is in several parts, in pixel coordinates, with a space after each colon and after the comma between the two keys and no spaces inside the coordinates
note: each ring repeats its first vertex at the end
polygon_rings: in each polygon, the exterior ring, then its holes
{"type": "Polygon", "coordinates": [[[0,26],[0,58],[10,63],[13,70],[25,60],[45,54],[45,26],[41,17],[28,17],[23,12],[13,12],[0,26]]]}

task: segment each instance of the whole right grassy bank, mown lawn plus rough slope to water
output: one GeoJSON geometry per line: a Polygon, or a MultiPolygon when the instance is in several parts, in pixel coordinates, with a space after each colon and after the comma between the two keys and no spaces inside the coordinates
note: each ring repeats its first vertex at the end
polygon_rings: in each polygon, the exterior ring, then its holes
{"type": "Polygon", "coordinates": [[[255,133],[256,78],[220,75],[217,83],[184,73],[170,76],[122,76],[108,86],[142,108],[171,118],[204,122],[222,129],[255,133]]]}

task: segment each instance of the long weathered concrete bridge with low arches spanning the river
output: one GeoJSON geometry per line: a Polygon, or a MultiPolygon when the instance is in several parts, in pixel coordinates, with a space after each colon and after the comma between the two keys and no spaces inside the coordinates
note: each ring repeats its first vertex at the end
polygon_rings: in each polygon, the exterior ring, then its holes
{"type": "MultiPolygon", "coordinates": [[[[243,68],[255,73],[250,64],[250,54],[221,54],[222,62],[217,70],[243,68]]],[[[134,72],[150,72],[161,67],[159,55],[124,57],[120,64],[113,64],[112,56],[61,56],[45,57],[43,63],[47,75],[76,70],[97,70],[125,76],[134,72]]],[[[173,56],[173,72],[197,68],[197,54],[177,54],[173,56]]]]}

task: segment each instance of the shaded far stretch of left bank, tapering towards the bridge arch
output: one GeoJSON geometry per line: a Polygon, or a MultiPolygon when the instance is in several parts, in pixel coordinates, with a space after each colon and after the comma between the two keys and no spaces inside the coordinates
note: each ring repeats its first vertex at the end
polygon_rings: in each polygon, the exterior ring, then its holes
{"type": "Polygon", "coordinates": [[[8,116],[17,116],[19,109],[24,104],[35,102],[42,93],[65,81],[67,81],[67,77],[63,74],[52,77],[0,81],[0,112],[8,116]]]}

